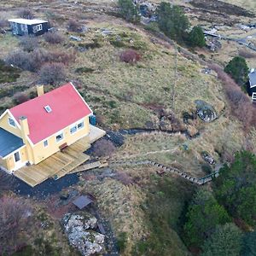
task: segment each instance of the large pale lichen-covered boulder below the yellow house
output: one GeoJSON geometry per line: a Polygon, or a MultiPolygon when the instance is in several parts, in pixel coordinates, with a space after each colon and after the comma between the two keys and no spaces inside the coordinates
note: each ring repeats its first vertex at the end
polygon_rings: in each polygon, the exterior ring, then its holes
{"type": "Polygon", "coordinates": [[[92,230],[97,219],[89,212],[67,213],[61,219],[68,241],[84,256],[101,253],[104,250],[105,236],[92,230]]]}

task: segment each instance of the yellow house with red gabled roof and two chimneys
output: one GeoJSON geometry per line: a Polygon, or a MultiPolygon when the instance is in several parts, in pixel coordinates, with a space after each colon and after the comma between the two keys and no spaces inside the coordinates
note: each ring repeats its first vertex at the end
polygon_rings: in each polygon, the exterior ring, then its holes
{"type": "Polygon", "coordinates": [[[92,111],[72,83],[7,109],[0,117],[0,166],[37,165],[90,133],[92,111]]]}

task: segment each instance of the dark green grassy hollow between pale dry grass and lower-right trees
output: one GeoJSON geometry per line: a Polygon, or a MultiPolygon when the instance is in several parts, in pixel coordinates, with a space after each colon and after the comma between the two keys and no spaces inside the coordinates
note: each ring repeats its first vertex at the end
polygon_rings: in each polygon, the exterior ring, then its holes
{"type": "Polygon", "coordinates": [[[184,221],[184,210],[195,186],[172,177],[152,177],[148,200],[142,205],[149,236],[138,241],[133,255],[187,255],[177,233],[184,221]]]}

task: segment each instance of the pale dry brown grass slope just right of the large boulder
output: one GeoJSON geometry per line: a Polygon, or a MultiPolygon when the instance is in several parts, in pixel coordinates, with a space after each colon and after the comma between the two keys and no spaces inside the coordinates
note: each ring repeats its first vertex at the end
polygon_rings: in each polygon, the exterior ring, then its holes
{"type": "Polygon", "coordinates": [[[114,233],[127,234],[127,245],[122,255],[131,255],[134,244],[148,233],[140,208],[145,200],[143,191],[137,186],[125,186],[112,178],[86,183],[86,190],[88,189],[96,195],[98,207],[104,217],[109,219],[114,233]]]}

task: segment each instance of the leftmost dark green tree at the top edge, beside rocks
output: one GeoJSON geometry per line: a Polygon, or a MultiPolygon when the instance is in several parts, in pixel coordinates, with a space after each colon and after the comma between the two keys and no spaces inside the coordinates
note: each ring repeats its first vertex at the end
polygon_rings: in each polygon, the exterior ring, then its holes
{"type": "Polygon", "coordinates": [[[127,21],[138,22],[140,16],[138,14],[138,7],[132,0],[119,0],[119,14],[127,21]]]}

